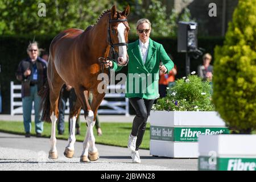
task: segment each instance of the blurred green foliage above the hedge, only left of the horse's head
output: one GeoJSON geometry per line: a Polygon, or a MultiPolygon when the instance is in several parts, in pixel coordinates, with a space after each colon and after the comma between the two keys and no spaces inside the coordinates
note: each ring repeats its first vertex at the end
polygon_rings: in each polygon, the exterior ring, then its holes
{"type": "MultiPolygon", "coordinates": [[[[129,2],[133,4],[133,1],[129,2]]],[[[114,0],[3,0],[0,1],[0,34],[56,35],[67,28],[85,30],[96,23],[103,11],[113,5],[123,10],[127,3],[119,4],[114,0]],[[45,17],[38,15],[39,3],[46,5],[45,17]]]]}

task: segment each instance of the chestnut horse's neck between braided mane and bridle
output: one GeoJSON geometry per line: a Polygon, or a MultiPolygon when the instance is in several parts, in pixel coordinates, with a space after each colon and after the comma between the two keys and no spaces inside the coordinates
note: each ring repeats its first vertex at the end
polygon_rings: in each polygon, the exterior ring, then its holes
{"type": "Polygon", "coordinates": [[[108,47],[108,20],[109,16],[105,14],[96,25],[84,31],[84,35],[81,36],[83,46],[94,52],[96,57],[103,57],[108,47]]]}

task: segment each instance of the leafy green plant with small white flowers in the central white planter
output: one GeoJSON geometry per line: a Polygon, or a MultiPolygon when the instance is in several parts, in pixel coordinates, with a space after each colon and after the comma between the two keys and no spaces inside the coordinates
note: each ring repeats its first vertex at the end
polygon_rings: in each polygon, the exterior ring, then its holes
{"type": "Polygon", "coordinates": [[[167,111],[213,111],[214,106],[210,99],[211,89],[209,81],[202,81],[198,76],[189,75],[187,78],[183,77],[178,79],[176,84],[167,90],[167,96],[160,98],[153,109],[167,111]]]}

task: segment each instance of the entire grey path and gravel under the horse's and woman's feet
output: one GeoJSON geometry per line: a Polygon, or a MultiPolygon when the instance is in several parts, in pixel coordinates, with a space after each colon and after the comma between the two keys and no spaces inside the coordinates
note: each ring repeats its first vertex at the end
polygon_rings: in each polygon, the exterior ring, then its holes
{"type": "Polygon", "coordinates": [[[197,159],[157,158],[148,150],[139,150],[141,164],[131,163],[127,148],[96,144],[100,159],[80,163],[82,142],[75,143],[74,158],[63,155],[66,140],[57,140],[59,159],[49,160],[48,138],[25,138],[23,135],[0,133],[1,170],[60,170],[60,171],[166,171],[197,170],[197,159]]]}

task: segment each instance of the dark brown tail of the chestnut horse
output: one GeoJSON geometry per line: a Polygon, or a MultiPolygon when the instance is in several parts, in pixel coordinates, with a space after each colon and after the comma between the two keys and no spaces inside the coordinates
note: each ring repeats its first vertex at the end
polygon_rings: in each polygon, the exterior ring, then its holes
{"type": "Polygon", "coordinates": [[[51,109],[51,102],[49,100],[49,83],[48,80],[46,81],[46,84],[42,87],[42,89],[39,91],[39,96],[41,97],[41,103],[40,103],[40,120],[51,122],[50,117],[50,109],[51,109]]]}

